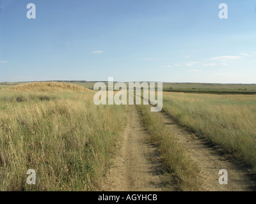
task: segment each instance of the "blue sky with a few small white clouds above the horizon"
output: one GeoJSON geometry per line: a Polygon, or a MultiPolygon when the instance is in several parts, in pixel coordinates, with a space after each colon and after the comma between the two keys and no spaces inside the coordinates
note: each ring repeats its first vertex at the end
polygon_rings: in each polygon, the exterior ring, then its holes
{"type": "Polygon", "coordinates": [[[0,82],[256,84],[256,0],[0,0],[0,82]],[[28,3],[36,19],[28,19],[28,3]],[[219,18],[219,4],[228,19],[219,18]]]}

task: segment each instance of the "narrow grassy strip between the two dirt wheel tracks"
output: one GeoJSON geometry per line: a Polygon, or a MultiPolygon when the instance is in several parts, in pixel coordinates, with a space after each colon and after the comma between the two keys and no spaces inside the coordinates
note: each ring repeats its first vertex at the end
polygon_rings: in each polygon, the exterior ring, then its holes
{"type": "Polygon", "coordinates": [[[184,147],[166,128],[159,116],[150,112],[149,105],[138,105],[143,115],[145,126],[150,132],[150,142],[157,145],[163,159],[163,167],[175,176],[180,191],[200,191],[202,180],[200,168],[186,154],[184,147]]]}

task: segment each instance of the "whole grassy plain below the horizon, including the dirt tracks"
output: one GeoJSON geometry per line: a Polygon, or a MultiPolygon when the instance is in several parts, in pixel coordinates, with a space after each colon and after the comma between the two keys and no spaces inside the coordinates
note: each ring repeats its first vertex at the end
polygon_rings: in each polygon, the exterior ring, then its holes
{"type": "Polygon", "coordinates": [[[256,85],[164,83],[154,113],[94,83],[0,84],[1,191],[255,190],[256,85]]]}

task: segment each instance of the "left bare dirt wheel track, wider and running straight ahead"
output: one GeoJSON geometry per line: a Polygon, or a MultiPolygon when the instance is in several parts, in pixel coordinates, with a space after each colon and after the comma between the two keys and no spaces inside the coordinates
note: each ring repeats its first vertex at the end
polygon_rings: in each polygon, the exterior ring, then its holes
{"type": "Polygon", "coordinates": [[[136,105],[129,105],[127,126],[102,191],[174,191],[175,182],[162,175],[157,149],[148,142],[149,133],[136,105]]]}

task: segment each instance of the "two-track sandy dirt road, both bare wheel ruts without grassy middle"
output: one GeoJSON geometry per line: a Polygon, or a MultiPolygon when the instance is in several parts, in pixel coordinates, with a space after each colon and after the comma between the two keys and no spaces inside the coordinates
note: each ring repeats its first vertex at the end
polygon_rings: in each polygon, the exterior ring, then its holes
{"type": "MultiPolygon", "coordinates": [[[[164,112],[157,115],[179,139],[191,159],[201,169],[204,180],[203,191],[253,191],[256,189],[253,173],[225,156],[200,138],[182,128],[164,112]],[[221,169],[228,171],[228,185],[220,185],[218,174],[221,169]]],[[[127,126],[119,142],[118,154],[113,159],[102,191],[175,191],[177,184],[172,175],[162,175],[161,158],[156,147],[148,142],[149,133],[143,125],[136,105],[129,106],[127,126]],[[167,182],[168,180],[168,182],[167,182]],[[168,184],[167,184],[168,183],[168,184]]]]}

